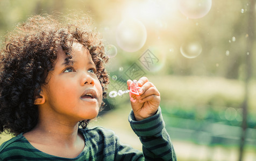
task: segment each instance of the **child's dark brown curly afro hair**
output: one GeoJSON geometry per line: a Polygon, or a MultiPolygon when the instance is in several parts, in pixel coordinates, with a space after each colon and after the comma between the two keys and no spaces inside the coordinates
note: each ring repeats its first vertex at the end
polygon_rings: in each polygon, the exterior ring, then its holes
{"type": "MultiPolygon", "coordinates": [[[[30,131],[38,122],[35,98],[54,69],[56,53],[62,48],[72,58],[72,43],[86,47],[96,65],[103,98],[109,84],[105,63],[108,57],[99,34],[90,29],[88,16],[55,18],[48,14],[33,16],[6,35],[0,50],[0,133],[18,135],[30,131]]],[[[103,103],[104,104],[104,103],[103,103]]],[[[80,121],[86,128],[89,120],[80,121]]]]}

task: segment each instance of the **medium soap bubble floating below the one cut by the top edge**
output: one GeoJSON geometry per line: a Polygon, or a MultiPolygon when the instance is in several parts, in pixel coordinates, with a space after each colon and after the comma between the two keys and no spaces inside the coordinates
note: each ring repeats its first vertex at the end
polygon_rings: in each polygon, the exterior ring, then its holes
{"type": "Polygon", "coordinates": [[[195,58],[202,52],[202,46],[199,42],[183,43],[180,47],[181,54],[187,58],[195,58]]]}

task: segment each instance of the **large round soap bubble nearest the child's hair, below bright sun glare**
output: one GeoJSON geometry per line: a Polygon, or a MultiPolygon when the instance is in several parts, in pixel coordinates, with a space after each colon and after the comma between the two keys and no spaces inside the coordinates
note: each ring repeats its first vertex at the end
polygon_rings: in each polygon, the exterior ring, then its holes
{"type": "Polygon", "coordinates": [[[117,44],[126,52],[136,52],[144,46],[146,39],[146,28],[137,19],[125,19],[117,27],[117,44]]]}

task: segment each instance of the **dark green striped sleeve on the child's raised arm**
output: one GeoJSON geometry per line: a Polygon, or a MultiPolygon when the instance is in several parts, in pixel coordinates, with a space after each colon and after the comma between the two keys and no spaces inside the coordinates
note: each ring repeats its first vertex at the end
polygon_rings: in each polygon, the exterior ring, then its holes
{"type": "Polygon", "coordinates": [[[160,107],[155,115],[141,121],[136,121],[131,111],[129,122],[143,144],[145,160],[177,160],[173,144],[165,129],[160,107]]]}

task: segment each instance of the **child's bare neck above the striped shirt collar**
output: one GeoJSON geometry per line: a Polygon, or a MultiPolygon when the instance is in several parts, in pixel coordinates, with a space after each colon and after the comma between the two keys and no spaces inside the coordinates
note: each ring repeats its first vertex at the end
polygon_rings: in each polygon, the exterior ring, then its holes
{"type": "Polygon", "coordinates": [[[24,137],[38,150],[50,155],[74,158],[84,148],[84,138],[78,133],[79,123],[64,125],[56,121],[39,121],[24,137]]]}

